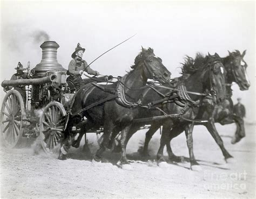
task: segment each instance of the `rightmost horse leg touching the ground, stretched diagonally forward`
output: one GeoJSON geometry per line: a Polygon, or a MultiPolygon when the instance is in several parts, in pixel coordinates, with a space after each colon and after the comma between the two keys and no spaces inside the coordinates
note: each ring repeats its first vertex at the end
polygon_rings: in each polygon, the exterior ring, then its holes
{"type": "Polygon", "coordinates": [[[213,139],[215,140],[215,142],[219,145],[220,150],[222,151],[225,160],[227,161],[227,159],[229,158],[233,158],[232,155],[230,153],[227,152],[226,148],[224,147],[223,144],[223,140],[221,139],[221,137],[219,136],[219,133],[215,127],[215,124],[213,121],[211,122],[207,122],[205,124],[207,130],[211,133],[213,139]]]}

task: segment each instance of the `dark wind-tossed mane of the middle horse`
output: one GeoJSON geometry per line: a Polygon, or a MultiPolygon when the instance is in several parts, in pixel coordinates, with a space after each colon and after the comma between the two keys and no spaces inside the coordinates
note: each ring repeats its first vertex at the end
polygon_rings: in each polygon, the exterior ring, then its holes
{"type": "Polygon", "coordinates": [[[181,63],[181,74],[193,74],[197,70],[203,68],[208,60],[208,56],[204,56],[201,53],[196,54],[196,58],[193,59],[190,56],[185,57],[185,62],[181,63]]]}

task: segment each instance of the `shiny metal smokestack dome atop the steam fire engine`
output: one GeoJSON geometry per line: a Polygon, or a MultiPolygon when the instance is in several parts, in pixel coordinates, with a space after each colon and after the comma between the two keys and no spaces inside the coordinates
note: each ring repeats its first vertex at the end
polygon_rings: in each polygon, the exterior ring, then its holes
{"type": "Polygon", "coordinates": [[[57,49],[59,45],[55,41],[45,41],[40,47],[42,48],[42,60],[33,68],[35,70],[35,78],[44,77],[45,73],[52,69],[59,72],[66,72],[66,69],[57,61],[57,49]]]}

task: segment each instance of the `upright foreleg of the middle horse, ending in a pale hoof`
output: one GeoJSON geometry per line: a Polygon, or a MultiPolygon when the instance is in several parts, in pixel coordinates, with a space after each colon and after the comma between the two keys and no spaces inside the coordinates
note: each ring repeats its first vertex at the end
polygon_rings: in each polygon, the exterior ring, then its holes
{"type": "Polygon", "coordinates": [[[186,134],[186,138],[187,138],[187,147],[188,147],[188,151],[189,151],[189,154],[190,154],[190,168],[191,168],[191,170],[201,170],[196,158],[194,158],[193,136],[192,136],[193,128],[194,128],[193,123],[189,123],[185,126],[185,134],[186,134]]]}

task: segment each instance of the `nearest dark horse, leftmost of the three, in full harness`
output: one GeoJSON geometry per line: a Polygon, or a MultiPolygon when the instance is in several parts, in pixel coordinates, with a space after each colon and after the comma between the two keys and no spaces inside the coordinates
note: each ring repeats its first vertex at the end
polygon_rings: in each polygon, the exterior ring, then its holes
{"type": "Polygon", "coordinates": [[[80,133],[85,134],[85,140],[87,130],[104,126],[104,142],[93,155],[93,159],[100,161],[110,133],[122,130],[138,114],[139,88],[144,87],[148,79],[157,80],[160,83],[170,81],[171,73],[163,65],[162,60],[153,53],[152,48],[142,47],[131,69],[116,83],[106,86],[90,83],[77,91],[69,111],[59,159],[66,159],[72,141],[73,126],[80,125],[80,133]],[[87,121],[82,124],[81,120],[84,117],[87,121]]]}

